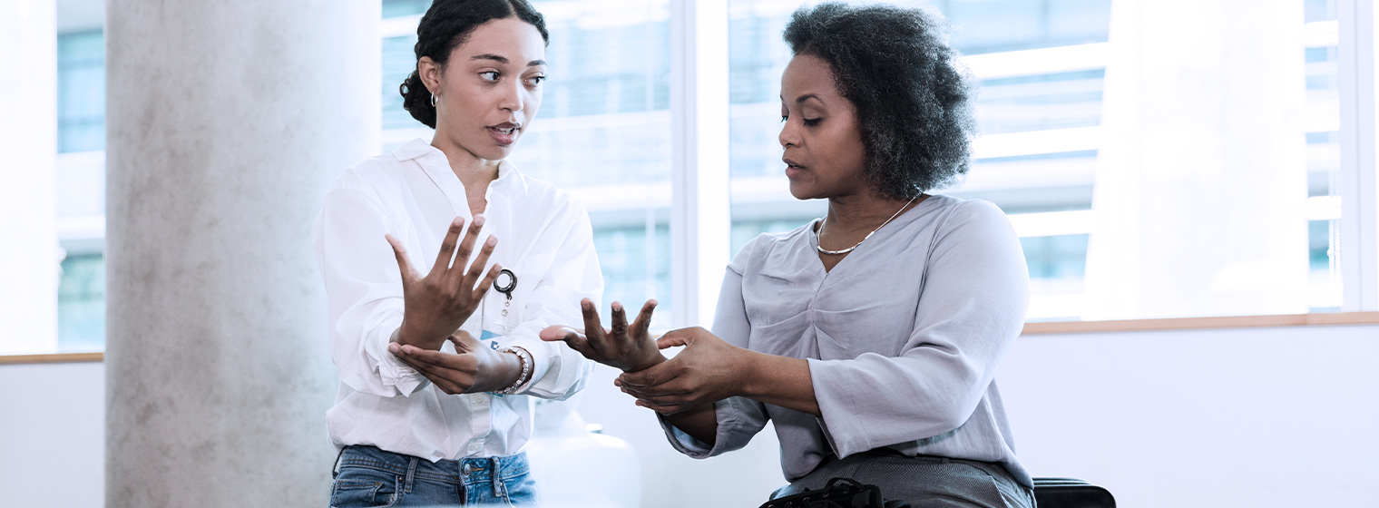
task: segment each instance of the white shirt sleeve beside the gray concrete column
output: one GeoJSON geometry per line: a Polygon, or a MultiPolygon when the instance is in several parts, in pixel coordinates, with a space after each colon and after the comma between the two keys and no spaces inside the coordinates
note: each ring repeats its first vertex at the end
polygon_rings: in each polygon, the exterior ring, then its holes
{"type": "Polygon", "coordinates": [[[325,279],[331,359],[341,381],[357,392],[410,396],[429,381],[387,351],[403,323],[403,277],[383,239],[389,232],[399,235],[393,222],[368,192],[336,188],[325,196],[312,235],[325,279]]]}

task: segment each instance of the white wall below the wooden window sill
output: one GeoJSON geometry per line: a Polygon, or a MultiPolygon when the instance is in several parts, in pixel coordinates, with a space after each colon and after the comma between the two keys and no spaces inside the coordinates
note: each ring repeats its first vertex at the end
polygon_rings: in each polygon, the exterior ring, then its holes
{"type": "MultiPolygon", "coordinates": [[[[1000,382],[1034,475],[1092,480],[1121,507],[1358,507],[1379,497],[1375,359],[1379,324],[1036,335],[1000,382]]],[[[782,485],[771,435],[681,457],[611,380],[598,371],[581,411],[637,447],[644,507],[754,507],[782,485]]],[[[0,387],[6,505],[99,507],[103,367],[0,366],[0,387]]]]}

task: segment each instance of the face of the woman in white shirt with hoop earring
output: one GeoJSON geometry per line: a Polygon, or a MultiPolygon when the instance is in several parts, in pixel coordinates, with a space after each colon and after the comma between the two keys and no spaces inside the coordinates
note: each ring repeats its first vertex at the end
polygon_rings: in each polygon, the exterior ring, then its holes
{"type": "Polygon", "coordinates": [[[546,44],[521,19],[492,19],[452,50],[444,66],[423,57],[416,68],[437,95],[437,141],[480,160],[501,160],[541,108],[546,44]]]}

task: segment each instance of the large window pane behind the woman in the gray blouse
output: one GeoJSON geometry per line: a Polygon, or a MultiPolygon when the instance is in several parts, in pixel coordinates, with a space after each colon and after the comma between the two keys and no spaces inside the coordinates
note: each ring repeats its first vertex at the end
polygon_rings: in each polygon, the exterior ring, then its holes
{"type": "MultiPolygon", "coordinates": [[[[1117,23],[1111,0],[899,4],[945,12],[980,83],[972,171],[938,192],[992,200],[1011,217],[1030,268],[1031,320],[1339,308],[1335,0],[1269,10],[1198,1],[1191,15],[1186,3],[1140,3],[1135,23],[1117,23]],[[1157,51],[1157,61],[1127,59],[1127,48],[1157,51]],[[1117,77],[1135,73],[1158,88],[1117,77]],[[1131,137],[1172,142],[1147,148],[1131,137]],[[1255,142],[1277,153],[1262,156],[1255,142]],[[1140,271],[1158,276],[1132,273],[1140,271]]],[[[825,210],[789,196],[779,162],[776,95],[790,58],[781,32],[796,7],[731,3],[735,250],[825,210]]]]}

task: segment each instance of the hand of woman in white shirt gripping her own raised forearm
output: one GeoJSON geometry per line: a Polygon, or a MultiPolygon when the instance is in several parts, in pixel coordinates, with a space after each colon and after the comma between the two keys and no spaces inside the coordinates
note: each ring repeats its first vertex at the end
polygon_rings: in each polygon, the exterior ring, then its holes
{"type": "Polygon", "coordinates": [[[492,392],[510,387],[521,375],[521,360],[501,353],[461,330],[450,335],[455,353],[389,344],[387,351],[416,369],[445,393],[492,392]]]}

